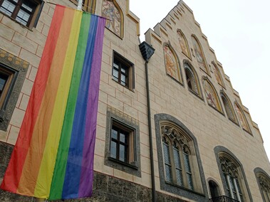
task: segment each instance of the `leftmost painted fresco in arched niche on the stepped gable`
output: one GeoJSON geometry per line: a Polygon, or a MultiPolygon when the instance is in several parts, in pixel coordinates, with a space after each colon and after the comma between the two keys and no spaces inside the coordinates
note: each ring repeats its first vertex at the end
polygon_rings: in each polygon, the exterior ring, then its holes
{"type": "Polygon", "coordinates": [[[177,60],[168,46],[164,46],[164,56],[166,73],[175,78],[175,80],[180,81],[177,60]]]}

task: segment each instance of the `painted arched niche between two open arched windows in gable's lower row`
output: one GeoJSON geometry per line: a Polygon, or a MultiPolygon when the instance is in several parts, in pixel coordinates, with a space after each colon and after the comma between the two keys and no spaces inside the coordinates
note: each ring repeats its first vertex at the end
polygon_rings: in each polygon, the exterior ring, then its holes
{"type": "Polygon", "coordinates": [[[214,86],[207,78],[203,78],[202,83],[204,85],[204,93],[205,97],[207,98],[207,103],[211,107],[214,107],[214,109],[218,110],[219,112],[222,112],[222,106],[219,102],[219,97],[217,96],[217,92],[214,89],[214,86]]]}

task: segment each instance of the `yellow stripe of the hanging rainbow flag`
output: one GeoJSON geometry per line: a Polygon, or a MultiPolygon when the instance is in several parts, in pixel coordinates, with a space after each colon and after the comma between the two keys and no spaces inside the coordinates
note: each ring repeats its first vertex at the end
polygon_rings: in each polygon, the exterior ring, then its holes
{"type": "MultiPolygon", "coordinates": [[[[72,15],[74,10],[67,9],[67,15],[72,15]]],[[[48,198],[51,188],[51,181],[53,178],[53,170],[56,163],[57,149],[61,137],[61,129],[63,126],[63,119],[66,111],[66,104],[68,100],[68,92],[71,85],[71,76],[73,73],[73,63],[76,55],[76,48],[78,45],[78,36],[81,26],[81,11],[75,11],[73,16],[73,23],[71,26],[71,33],[68,41],[68,49],[63,65],[58,92],[56,95],[56,102],[53,107],[53,115],[51,117],[51,124],[48,130],[48,137],[46,140],[46,147],[41,161],[41,167],[38,174],[36,189],[34,196],[39,198],[48,198]]],[[[65,21],[63,21],[65,23],[65,21]]]]}

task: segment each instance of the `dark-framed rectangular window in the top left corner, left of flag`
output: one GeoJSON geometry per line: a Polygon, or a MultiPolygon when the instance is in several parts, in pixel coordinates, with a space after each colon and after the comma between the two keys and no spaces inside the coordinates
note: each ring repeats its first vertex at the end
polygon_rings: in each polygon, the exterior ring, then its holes
{"type": "Polygon", "coordinates": [[[28,28],[35,26],[42,0],[0,0],[0,11],[28,28]]]}

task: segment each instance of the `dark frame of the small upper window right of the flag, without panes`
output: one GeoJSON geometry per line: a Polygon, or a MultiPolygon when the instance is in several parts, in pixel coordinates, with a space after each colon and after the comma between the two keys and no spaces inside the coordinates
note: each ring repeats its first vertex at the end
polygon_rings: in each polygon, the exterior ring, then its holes
{"type": "Polygon", "coordinates": [[[112,79],[122,85],[123,87],[127,87],[129,90],[135,89],[135,73],[134,73],[134,64],[129,60],[125,59],[122,55],[113,50],[113,67],[112,67],[112,79]],[[115,67],[118,65],[118,70],[115,67]],[[123,69],[125,69],[125,73],[123,73],[123,69]],[[118,73],[118,78],[114,76],[115,71],[118,73]],[[122,75],[125,75],[125,85],[122,83],[122,75]]]}

